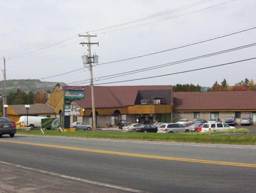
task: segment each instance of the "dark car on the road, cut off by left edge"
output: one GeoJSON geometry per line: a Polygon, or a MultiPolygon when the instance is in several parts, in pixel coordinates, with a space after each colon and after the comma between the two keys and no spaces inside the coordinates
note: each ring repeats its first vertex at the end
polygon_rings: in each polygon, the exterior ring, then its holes
{"type": "Polygon", "coordinates": [[[0,117],[0,137],[3,134],[9,134],[14,137],[16,133],[16,124],[7,117],[0,117]]]}

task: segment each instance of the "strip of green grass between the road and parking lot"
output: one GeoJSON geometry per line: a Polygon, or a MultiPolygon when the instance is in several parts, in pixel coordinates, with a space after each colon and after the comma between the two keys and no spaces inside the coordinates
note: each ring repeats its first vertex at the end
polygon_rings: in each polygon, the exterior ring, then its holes
{"type": "Polygon", "coordinates": [[[56,132],[55,130],[45,130],[45,134],[40,130],[17,131],[22,134],[73,136],[88,138],[108,138],[108,139],[128,139],[128,140],[149,140],[149,141],[176,141],[195,143],[222,143],[222,144],[256,144],[256,134],[244,135],[214,135],[209,133],[139,133],[139,132],[56,132]]]}

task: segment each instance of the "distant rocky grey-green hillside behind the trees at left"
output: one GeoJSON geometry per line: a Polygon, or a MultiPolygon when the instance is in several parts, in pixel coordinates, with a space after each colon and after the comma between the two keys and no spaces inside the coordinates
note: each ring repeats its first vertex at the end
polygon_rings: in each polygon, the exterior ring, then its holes
{"type": "MultiPolygon", "coordinates": [[[[21,89],[22,91],[29,92],[37,92],[40,89],[44,90],[53,90],[56,84],[65,84],[64,82],[50,82],[50,81],[41,81],[38,79],[9,79],[6,80],[7,94],[10,91],[16,91],[17,89],[21,89]],[[49,88],[46,88],[49,87],[49,88]]],[[[4,92],[4,81],[0,81],[0,93],[4,92]]]]}

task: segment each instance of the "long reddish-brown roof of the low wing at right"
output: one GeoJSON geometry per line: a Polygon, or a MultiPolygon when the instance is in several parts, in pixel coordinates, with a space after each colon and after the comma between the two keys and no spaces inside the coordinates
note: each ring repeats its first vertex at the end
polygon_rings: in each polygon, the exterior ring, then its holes
{"type": "Polygon", "coordinates": [[[256,91],[173,92],[174,110],[256,109],[256,91]]]}

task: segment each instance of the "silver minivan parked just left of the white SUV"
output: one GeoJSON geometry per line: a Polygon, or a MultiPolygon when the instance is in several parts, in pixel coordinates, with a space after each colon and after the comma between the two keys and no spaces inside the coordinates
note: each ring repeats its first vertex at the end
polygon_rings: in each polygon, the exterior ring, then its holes
{"type": "Polygon", "coordinates": [[[189,129],[179,123],[166,123],[157,128],[158,133],[189,132],[189,129]]]}

